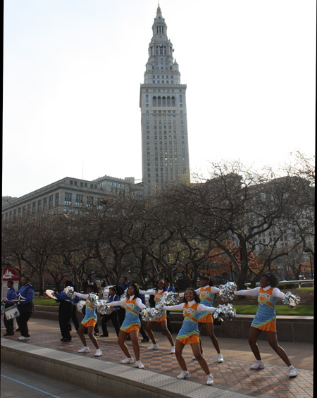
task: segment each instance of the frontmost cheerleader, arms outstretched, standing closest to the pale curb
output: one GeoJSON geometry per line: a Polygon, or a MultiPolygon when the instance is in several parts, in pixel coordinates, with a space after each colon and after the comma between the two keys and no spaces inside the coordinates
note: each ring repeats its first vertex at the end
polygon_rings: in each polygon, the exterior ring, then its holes
{"type": "Polygon", "coordinates": [[[213,385],[213,376],[209,371],[209,367],[201,355],[200,345],[199,345],[199,330],[198,330],[198,313],[202,311],[215,312],[216,308],[207,307],[204,304],[199,304],[200,299],[197,292],[194,289],[185,290],[184,301],[182,304],[176,306],[163,306],[166,311],[182,310],[184,315],[184,321],[182,323],[182,328],[178,332],[176,337],[175,355],[180,367],[182,368],[182,373],[177,376],[178,379],[189,378],[189,371],[187,370],[186,362],[182,356],[182,350],[185,344],[190,344],[192,346],[192,352],[199,362],[202,370],[207,375],[206,385],[213,385]]]}

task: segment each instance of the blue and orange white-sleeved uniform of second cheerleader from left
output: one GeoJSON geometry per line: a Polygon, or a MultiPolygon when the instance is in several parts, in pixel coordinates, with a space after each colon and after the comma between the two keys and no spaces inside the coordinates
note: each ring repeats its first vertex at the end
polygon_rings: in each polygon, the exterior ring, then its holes
{"type": "Polygon", "coordinates": [[[125,333],[130,333],[132,330],[137,330],[141,327],[141,322],[139,321],[139,310],[144,309],[145,306],[139,297],[130,296],[127,299],[120,301],[113,301],[107,303],[108,306],[122,306],[125,308],[125,320],[120,327],[125,333]]]}

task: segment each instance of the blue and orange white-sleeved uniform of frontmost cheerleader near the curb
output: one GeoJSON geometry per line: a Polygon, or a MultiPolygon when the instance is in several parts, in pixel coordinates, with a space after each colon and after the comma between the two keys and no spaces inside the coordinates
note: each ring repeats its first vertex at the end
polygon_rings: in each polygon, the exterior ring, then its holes
{"type": "Polygon", "coordinates": [[[182,344],[193,344],[199,343],[199,330],[198,330],[198,318],[201,312],[215,312],[215,307],[208,307],[204,304],[199,304],[192,300],[188,303],[178,304],[176,306],[163,306],[166,311],[177,311],[182,310],[184,321],[182,328],[178,332],[176,340],[182,344]]]}

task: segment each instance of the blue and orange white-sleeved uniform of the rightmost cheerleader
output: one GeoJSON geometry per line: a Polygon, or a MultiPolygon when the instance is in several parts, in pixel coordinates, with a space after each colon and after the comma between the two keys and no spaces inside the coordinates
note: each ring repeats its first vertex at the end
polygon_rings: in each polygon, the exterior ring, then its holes
{"type": "Polygon", "coordinates": [[[270,285],[264,288],[255,287],[254,289],[237,290],[234,294],[236,296],[257,296],[259,306],[251,326],[266,332],[276,332],[275,304],[278,298],[285,297],[278,287],[270,285]]]}

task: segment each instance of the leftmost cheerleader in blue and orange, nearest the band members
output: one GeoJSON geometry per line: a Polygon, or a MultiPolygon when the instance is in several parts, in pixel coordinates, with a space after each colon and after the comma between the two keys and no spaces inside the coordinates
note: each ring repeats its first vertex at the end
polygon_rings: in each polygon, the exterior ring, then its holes
{"type": "Polygon", "coordinates": [[[80,297],[80,299],[86,299],[86,313],[85,317],[83,318],[82,322],[80,323],[80,327],[77,330],[77,333],[80,337],[80,340],[82,340],[82,344],[84,344],[84,347],[78,350],[78,352],[90,352],[89,347],[87,347],[87,342],[86,338],[84,335],[84,332],[87,328],[87,333],[89,336],[89,339],[92,340],[92,344],[94,344],[94,347],[96,347],[96,353],[94,356],[101,356],[102,352],[101,349],[99,349],[99,344],[96,340],[96,337],[94,337],[94,326],[97,323],[97,313],[96,309],[94,309],[94,306],[90,304],[89,300],[87,299],[89,293],[94,293],[95,287],[94,285],[88,285],[87,286],[87,294],[81,294],[75,292],[75,296],[80,297]]]}

